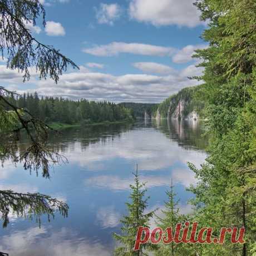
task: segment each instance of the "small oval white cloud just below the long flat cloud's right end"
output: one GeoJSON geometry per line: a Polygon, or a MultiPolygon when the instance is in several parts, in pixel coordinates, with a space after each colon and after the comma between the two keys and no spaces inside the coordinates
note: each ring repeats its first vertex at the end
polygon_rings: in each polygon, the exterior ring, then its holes
{"type": "Polygon", "coordinates": [[[169,74],[175,73],[174,68],[155,62],[136,62],[132,64],[134,67],[146,73],[169,74]]]}

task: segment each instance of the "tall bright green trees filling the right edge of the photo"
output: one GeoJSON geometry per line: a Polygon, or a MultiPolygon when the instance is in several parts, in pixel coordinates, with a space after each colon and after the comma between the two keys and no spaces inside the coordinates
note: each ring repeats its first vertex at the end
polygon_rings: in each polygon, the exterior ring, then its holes
{"type": "MultiPolygon", "coordinates": [[[[256,239],[256,3],[254,0],[200,0],[202,18],[210,19],[196,51],[205,67],[201,97],[206,106],[209,156],[195,171],[191,186],[195,218],[210,227],[245,227],[247,243],[202,245],[201,255],[251,255],[256,239]]],[[[254,252],[253,252],[254,253],[254,252]]]]}

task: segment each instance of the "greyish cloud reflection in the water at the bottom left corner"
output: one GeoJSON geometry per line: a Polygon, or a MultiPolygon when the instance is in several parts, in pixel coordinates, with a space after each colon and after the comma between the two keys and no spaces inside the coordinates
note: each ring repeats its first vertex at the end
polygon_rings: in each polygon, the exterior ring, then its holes
{"type": "Polygon", "coordinates": [[[110,256],[110,248],[104,245],[81,239],[76,232],[62,228],[51,232],[45,227],[19,230],[0,238],[0,250],[8,250],[9,255],[15,256],[110,256]]]}

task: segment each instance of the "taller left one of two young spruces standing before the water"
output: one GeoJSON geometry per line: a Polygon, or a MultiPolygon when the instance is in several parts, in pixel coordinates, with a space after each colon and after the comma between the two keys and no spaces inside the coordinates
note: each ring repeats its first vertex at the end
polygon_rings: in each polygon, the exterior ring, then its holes
{"type": "Polygon", "coordinates": [[[155,211],[145,213],[147,208],[147,201],[149,196],[145,198],[146,189],[145,183],[140,183],[138,168],[134,174],[134,185],[130,185],[130,203],[126,203],[128,214],[121,219],[123,227],[121,228],[122,235],[114,234],[114,238],[117,242],[121,243],[121,246],[115,249],[114,255],[116,256],[142,256],[147,255],[147,249],[153,249],[154,246],[150,243],[141,244],[140,250],[134,251],[134,244],[136,239],[137,230],[139,227],[149,227],[149,221],[154,215],[155,211]]]}

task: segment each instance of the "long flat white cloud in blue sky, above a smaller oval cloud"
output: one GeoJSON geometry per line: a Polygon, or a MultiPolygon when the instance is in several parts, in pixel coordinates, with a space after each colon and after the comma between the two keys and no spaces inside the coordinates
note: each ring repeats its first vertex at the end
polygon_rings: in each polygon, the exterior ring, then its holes
{"type": "Polygon", "coordinates": [[[155,45],[146,45],[144,43],[124,43],[112,42],[109,45],[94,46],[84,48],[83,52],[95,56],[116,56],[119,53],[132,53],[149,56],[166,56],[174,53],[174,48],[155,45]]]}

